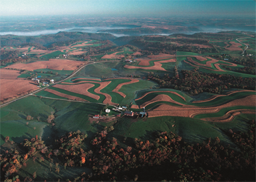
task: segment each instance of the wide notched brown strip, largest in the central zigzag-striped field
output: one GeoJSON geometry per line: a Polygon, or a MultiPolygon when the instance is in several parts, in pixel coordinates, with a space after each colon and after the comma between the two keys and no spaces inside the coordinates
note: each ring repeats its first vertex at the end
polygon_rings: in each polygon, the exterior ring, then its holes
{"type": "Polygon", "coordinates": [[[77,84],[77,85],[57,84],[57,85],[54,85],[53,87],[57,87],[59,89],[64,89],[66,91],[78,93],[81,95],[86,95],[88,97],[91,97],[92,99],[96,99],[97,101],[98,101],[98,99],[100,99],[100,96],[88,92],[88,89],[90,89],[91,87],[94,87],[94,84],[92,84],[92,83],[83,83],[83,84],[77,84]]]}

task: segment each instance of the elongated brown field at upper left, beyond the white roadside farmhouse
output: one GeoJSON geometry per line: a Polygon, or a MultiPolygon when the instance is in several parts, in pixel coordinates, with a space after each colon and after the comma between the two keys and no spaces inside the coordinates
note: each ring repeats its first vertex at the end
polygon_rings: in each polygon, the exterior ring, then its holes
{"type": "Polygon", "coordinates": [[[6,68],[13,69],[25,69],[33,71],[35,69],[55,69],[55,70],[74,70],[79,66],[82,66],[83,62],[72,61],[72,60],[61,60],[61,59],[51,59],[49,61],[39,61],[29,64],[12,64],[6,68]]]}

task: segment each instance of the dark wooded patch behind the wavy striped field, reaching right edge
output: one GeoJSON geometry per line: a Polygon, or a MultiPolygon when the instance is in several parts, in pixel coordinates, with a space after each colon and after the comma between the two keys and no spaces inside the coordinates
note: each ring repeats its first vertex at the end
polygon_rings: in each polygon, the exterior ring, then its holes
{"type": "Polygon", "coordinates": [[[209,92],[220,94],[222,90],[231,88],[237,89],[256,89],[256,80],[253,78],[235,77],[233,75],[220,75],[217,73],[201,73],[195,69],[182,70],[184,75],[180,77],[170,77],[165,74],[160,77],[156,73],[148,73],[148,79],[152,79],[160,84],[160,87],[168,87],[190,91],[190,94],[197,95],[200,92],[209,92]]]}

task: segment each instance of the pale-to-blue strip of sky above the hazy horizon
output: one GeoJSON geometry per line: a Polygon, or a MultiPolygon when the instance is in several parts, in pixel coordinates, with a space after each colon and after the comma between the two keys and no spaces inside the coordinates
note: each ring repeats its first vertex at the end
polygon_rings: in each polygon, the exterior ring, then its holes
{"type": "Polygon", "coordinates": [[[255,15],[256,0],[1,0],[0,16],[255,15]]]}

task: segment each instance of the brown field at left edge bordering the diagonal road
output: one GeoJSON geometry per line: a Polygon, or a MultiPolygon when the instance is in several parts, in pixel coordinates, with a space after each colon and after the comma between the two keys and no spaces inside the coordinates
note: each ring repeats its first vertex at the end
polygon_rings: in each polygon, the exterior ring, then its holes
{"type": "Polygon", "coordinates": [[[0,79],[0,101],[6,101],[13,97],[19,97],[30,91],[39,89],[31,80],[0,79]]]}

